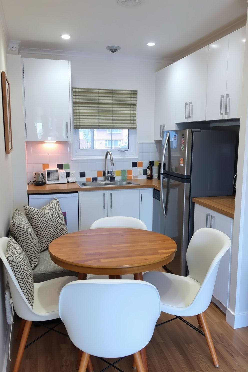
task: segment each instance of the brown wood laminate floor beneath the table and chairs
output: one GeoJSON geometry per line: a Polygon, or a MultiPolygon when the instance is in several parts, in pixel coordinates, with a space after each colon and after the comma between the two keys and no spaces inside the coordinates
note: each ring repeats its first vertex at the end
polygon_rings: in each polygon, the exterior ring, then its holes
{"type": "MultiPolygon", "coordinates": [[[[205,337],[182,321],[174,320],[155,328],[154,335],[146,347],[149,372],[248,371],[248,327],[233,330],[226,323],[225,314],[212,303],[205,315],[219,359],[218,370],[213,365],[205,337]]],[[[158,323],[170,318],[171,315],[161,312],[158,323]]],[[[186,320],[198,326],[196,317],[186,318],[186,320]]],[[[17,318],[15,323],[10,372],[13,371],[19,347],[19,342],[15,339],[20,319],[17,318]]],[[[51,323],[49,326],[54,324],[51,323]]],[[[66,333],[63,324],[56,329],[66,333]]],[[[28,343],[44,331],[46,331],[45,327],[35,327],[32,324],[28,343]]],[[[19,372],[74,372],[77,355],[78,349],[68,337],[51,331],[24,351],[19,372]]],[[[132,356],[128,356],[116,366],[125,372],[134,372],[132,360],[132,356]]],[[[112,362],[112,359],[109,361],[112,362]]],[[[99,372],[107,366],[94,356],[92,363],[94,372],[99,372]]],[[[117,370],[110,367],[107,371],[117,370]]]]}

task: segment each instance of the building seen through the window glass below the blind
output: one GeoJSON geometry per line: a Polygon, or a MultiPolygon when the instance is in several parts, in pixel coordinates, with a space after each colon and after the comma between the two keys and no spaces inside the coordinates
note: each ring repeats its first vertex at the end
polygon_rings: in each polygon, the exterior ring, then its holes
{"type": "Polygon", "coordinates": [[[128,148],[128,129],[79,129],[79,149],[128,148]]]}

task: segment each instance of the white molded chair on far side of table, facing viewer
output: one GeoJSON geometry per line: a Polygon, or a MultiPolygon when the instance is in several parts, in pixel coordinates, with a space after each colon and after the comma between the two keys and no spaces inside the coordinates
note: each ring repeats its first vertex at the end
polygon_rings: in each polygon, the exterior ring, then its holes
{"type": "MultiPolygon", "coordinates": [[[[104,227],[125,227],[132,229],[147,230],[147,227],[143,221],[134,217],[103,217],[97,219],[91,225],[90,229],[99,229],[104,227]]],[[[107,275],[92,275],[88,274],[87,279],[107,279],[107,275]]],[[[122,275],[122,279],[133,279],[133,274],[122,275]]]]}

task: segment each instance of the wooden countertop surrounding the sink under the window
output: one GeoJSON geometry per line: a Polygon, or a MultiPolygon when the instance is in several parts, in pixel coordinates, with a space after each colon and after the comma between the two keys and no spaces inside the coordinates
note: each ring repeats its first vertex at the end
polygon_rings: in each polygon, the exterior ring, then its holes
{"type": "Polygon", "coordinates": [[[97,191],[97,190],[120,190],[120,189],[145,189],[154,188],[160,190],[160,180],[154,178],[148,180],[146,178],[133,179],[139,185],[122,185],[122,186],[92,186],[80,187],[76,182],[71,183],[55,183],[53,185],[35,186],[28,185],[28,194],[43,194],[53,192],[78,192],[78,191],[97,191]]]}

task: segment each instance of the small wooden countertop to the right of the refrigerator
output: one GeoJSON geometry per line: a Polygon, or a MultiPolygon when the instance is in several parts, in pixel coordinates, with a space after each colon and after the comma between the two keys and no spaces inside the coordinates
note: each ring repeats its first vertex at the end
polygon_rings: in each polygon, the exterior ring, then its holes
{"type": "Polygon", "coordinates": [[[235,196],[209,196],[207,198],[193,198],[192,201],[203,207],[212,209],[227,217],[234,218],[235,196]]]}

